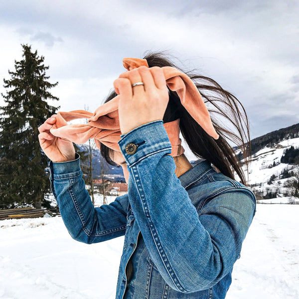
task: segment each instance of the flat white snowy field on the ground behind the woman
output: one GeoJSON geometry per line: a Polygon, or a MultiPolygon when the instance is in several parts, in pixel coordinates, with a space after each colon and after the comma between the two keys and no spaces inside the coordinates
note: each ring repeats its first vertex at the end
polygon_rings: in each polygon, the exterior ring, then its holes
{"type": "MultiPolygon", "coordinates": [[[[227,299],[299,298],[299,205],[257,205],[227,299]]],[[[74,241],[61,217],[0,221],[0,298],[114,299],[124,237],[74,241]]]]}

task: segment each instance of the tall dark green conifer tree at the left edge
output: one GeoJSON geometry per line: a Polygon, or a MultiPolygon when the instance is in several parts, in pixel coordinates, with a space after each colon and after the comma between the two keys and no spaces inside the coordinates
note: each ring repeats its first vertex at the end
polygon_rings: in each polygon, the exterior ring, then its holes
{"type": "Polygon", "coordinates": [[[15,71],[3,79],[6,106],[0,107],[0,208],[22,204],[47,206],[48,158],[40,148],[38,127],[60,107],[47,100],[59,100],[48,92],[58,82],[47,81],[44,57],[22,44],[22,57],[14,61],[15,71]]]}

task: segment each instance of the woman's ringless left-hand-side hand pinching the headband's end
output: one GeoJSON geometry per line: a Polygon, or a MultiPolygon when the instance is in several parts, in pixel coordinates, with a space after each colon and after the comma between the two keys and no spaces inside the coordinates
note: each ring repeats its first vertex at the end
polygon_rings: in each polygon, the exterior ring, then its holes
{"type": "Polygon", "coordinates": [[[56,114],[48,118],[38,127],[38,140],[40,147],[47,157],[53,162],[66,162],[75,159],[75,148],[71,141],[56,137],[50,129],[56,122],[56,114]]]}

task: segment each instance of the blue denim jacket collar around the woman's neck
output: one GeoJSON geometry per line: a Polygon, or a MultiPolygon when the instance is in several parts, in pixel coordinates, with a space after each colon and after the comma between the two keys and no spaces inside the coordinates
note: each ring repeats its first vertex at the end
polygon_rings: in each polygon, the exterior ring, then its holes
{"type": "Polygon", "coordinates": [[[211,162],[209,162],[208,160],[203,159],[203,158],[196,160],[192,164],[195,164],[195,165],[178,177],[181,185],[184,188],[186,188],[190,184],[192,184],[200,176],[202,176],[204,173],[206,173],[207,170],[214,169],[211,166],[211,162]]]}

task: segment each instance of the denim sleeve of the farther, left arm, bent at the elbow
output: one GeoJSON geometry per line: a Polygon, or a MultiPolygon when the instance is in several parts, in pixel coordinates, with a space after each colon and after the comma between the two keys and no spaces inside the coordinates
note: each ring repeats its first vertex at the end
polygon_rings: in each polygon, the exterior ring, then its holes
{"type": "Polygon", "coordinates": [[[95,208],[85,188],[78,153],[75,160],[50,161],[49,167],[51,190],[73,239],[91,244],[125,235],[128,194],[95,208]]]}

